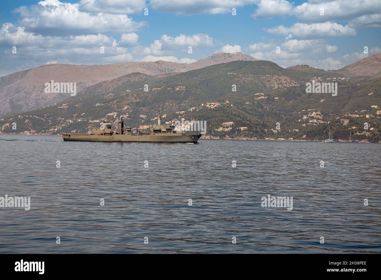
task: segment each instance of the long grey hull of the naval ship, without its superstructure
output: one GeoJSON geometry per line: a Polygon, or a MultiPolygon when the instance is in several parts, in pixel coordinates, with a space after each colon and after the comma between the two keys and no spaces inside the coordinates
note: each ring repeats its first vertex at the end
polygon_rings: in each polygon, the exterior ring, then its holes
{"type": "Polygon", "coordinates": [[[98,142],[149,142],[149,143],[197,143],[201,134],[155,133],[155,134],[80,134],[62,133],[64,141],[98,142]]]}

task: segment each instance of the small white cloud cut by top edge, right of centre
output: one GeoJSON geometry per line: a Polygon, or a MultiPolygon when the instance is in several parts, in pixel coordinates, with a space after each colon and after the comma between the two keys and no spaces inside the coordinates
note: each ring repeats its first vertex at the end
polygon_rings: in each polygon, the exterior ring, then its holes
{"type": "Polygon", "coordinates": [[[260,0],[256,5],[258,9],[251,16],[258,19],[290,15],[293,9],[293,4],[286,0],[260,0]]]}

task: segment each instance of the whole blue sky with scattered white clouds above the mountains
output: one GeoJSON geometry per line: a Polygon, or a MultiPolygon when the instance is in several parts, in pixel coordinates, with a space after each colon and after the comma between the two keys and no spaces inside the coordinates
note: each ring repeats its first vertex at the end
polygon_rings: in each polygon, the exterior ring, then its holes
{"type": "Polygon", "coordinates": [[[381,0],[13,0],[2,2],[0,25],[0,76],[50,63],[192,63],[236,50],[328,70],[381,52],[381,0]]]}

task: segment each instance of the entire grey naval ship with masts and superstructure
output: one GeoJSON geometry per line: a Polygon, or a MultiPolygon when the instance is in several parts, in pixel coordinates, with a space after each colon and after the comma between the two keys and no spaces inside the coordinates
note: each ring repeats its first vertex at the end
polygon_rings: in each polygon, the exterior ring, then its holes
{"type": "Polygon", "coordinates": [[[120,117],[118,131],[114,132],[111,122],[104,122],[104,128],[91,128],[90,133],[62,133],[64,141],[100,141],[100,142],[150,142],[150,143],[194,143],[200,139],[201,134],[187,134],[175,131],[173,125],[161,125],[160,111],[157,125],[150,127],[150,132],[139,129],[132,132],[131,127],[124,127],[123,117],[120,117]]]}

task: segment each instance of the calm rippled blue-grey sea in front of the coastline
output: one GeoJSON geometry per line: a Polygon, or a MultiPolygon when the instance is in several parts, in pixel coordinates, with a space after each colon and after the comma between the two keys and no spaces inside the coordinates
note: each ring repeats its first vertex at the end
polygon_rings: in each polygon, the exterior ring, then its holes
{"type": "Polygon", "coordinates": [[[0,134],[0,152],[0,196],[31,199],[0,208],[0,253],[381,251],[381,144],[0,134]],[[267,194],[293,210],[261,207],[267,194]]]}

